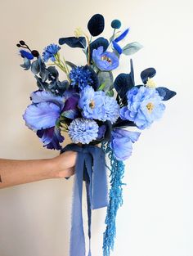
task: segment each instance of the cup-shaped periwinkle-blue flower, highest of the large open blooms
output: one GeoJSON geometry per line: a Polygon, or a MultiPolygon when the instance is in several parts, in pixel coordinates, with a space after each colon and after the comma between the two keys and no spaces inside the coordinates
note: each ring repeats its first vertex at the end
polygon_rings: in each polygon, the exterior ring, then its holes
{"type": "Polygon", "coordinates": [[[119,58],[114,52],[103,52],[103,47],[92,51],[92,60],[101,71],[114,70],[119,66],[119,58]]]}

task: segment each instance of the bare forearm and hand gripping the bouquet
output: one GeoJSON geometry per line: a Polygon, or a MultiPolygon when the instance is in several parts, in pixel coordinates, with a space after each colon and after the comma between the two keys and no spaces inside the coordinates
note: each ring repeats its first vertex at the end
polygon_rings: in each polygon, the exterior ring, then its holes
{"type": "Polygon", "coordinates": [[[66,151],[52,159],[0,159],[0,188],[74,174],[77,153],[66,151]]]}

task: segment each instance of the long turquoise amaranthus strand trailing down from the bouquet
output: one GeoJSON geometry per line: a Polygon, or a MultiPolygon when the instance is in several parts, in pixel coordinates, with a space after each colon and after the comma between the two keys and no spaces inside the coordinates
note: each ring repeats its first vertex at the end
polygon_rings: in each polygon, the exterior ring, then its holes
{"type": "Polygon", "coordinates": [[[106,229],[103,234],[103,256],[110,256],[110,249],[114,249],[114,238],[116,236],[117,211],[123,204],[124,164],[114,157],[110,144],[102,144],[102,148],[110,159],[110,194],[109,204],[105,217],[106,229]]]}

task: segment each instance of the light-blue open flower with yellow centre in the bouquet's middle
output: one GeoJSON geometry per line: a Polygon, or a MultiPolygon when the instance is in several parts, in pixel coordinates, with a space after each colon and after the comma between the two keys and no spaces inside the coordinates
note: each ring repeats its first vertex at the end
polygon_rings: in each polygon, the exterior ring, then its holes
{"type": "Polygon", "coordinates": [[[95,92],[90,86],[87,86],[80,93],[79,107],[83,110],[83,117],[86,119],[103,120],[105,110],[103,108],[105,101],[105,92],[95,92]]]}

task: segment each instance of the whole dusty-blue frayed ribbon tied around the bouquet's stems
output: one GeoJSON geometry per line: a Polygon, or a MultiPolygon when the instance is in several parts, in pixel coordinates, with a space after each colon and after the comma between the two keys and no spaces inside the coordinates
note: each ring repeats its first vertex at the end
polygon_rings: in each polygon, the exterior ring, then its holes
{"type": "Polygon", "coordinates": [[[88,237],[91,256],[92,209],[107,206],[107,178],[105,152],[98,146],[69,144],[61,150],[78,152],[75,164],[74,196],[72,205],[70,256],[85,256],[85,237],[83,231],[82,194],[83,181],[86,182],[88,204],[88,237]]]}

